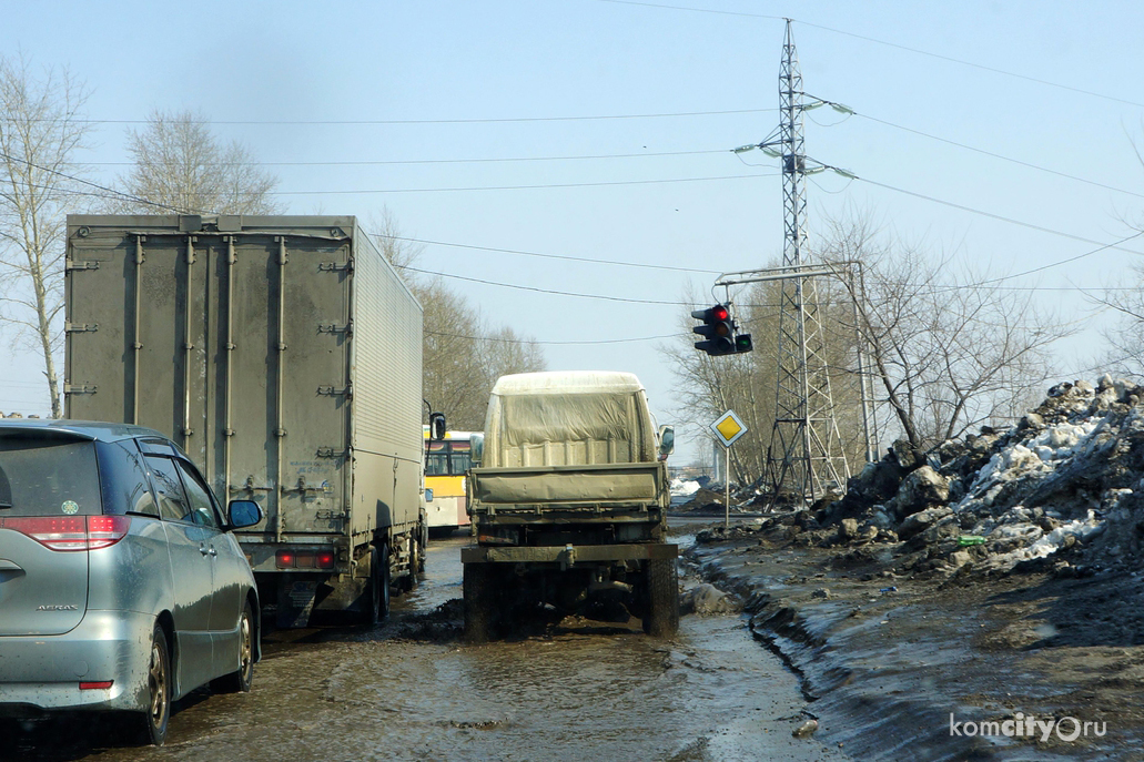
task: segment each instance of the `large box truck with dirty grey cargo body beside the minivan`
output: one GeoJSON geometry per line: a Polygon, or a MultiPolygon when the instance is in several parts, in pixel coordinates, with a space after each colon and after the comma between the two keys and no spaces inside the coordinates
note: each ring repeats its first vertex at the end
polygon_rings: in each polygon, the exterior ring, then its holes
{"type": "Polygon", "coordinates": [[[257,501],[237,535],[279,626],[384,617],[427,541],[421,305],[357,220],[69,215],[65,272],[65,415],[257,501]]]}

